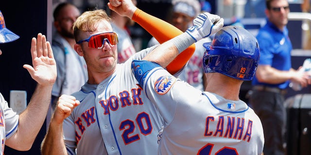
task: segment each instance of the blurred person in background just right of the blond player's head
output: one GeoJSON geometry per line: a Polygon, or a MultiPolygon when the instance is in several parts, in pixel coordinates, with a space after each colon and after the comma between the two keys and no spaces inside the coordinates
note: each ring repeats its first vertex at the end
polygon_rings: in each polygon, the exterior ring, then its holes
{"type": "MultiPolygon", "coordinates": [[[[136,0],[132,0],[134,5],[137,5],[136,0]]],[[[120,16],[118,13],[111,10],[110,12],[113,22],[111,23],[112,30],[118,34],[118,63],[124,63],[132,55],[136,53],[136,49],[132,43],[128,27],[133,26],[135,22],[126,17],[120,16]]]]}

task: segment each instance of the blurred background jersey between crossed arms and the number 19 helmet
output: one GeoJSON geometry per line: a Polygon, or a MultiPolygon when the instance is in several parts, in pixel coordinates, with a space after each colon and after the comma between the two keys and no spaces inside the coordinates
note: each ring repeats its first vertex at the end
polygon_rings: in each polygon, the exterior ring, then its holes
{"type": "MultiPolygon", "coordinates": [[[[202,58],[206,49],[203,47],[203,44],[208,42],[211,42],[211,39],[207,37],[194,43],[195,51],[185,69],[178,76],[181,80],[186,81],[191,86],[201,91],[205,90],[203,83],[204,70],[202,58]]],[[[159,42],[156,41],[155,37],[152,37],[148,42],[148,47],[158,44],[159,42]]]]}

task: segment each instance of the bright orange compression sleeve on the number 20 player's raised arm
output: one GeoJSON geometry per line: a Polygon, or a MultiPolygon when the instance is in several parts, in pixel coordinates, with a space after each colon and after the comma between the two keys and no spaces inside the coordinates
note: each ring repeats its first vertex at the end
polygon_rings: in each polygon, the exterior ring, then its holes
{"type": "MultiPolygon", "coordinates": [[[[175,28],[173,25],[151,16],[140,9],[137,9],[132,17],[132,20],[137,22],[141,27],[148,31],[160,43],[164,43],[173,37],[182,34],[183,32],[175,28]]],[[[181,52],[167,67],[166,69],[172,75],[177,73],[191,58],[194,53],[195,45],[181,52]]]]}

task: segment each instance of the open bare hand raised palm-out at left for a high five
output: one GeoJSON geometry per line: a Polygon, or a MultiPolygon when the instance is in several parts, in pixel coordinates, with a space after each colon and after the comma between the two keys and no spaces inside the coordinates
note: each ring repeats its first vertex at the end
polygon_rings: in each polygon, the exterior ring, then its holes
{"type": "Polygon", "coordinates": [[[56,80],[56,62],[45,35],[38,33],[37,39],[32,39],[31,56],[33,67],[28,64],[24,64],[23,67],[39,85],[52,86],[56,80]]]}

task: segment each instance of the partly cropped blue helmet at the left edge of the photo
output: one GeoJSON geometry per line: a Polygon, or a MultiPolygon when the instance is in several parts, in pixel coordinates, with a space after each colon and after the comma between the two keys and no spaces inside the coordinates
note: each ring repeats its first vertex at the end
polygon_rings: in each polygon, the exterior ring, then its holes
{"type": "Polygon", "coordinates": [[[5,27],[4,17],[0,11],[0,44],[12,42],[18,38],[18,35],[5,27]]]}

